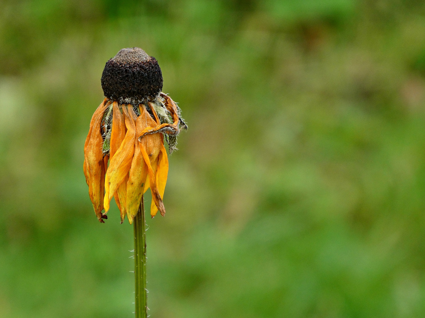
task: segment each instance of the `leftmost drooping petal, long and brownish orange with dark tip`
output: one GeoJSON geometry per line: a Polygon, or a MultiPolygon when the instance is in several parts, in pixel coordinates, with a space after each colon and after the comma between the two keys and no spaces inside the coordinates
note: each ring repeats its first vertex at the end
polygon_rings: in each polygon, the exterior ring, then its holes
{"type": "Polygon", "coordinates": [[[93,203],[94,212],[98,220],[102,223],[105,164],[102,153],[103,139],[101,122],[103,112],[108,106],[108,104],[105,105],[104,100],[94,112],[84,147],[84,170],[86,173],[86,181],[88,181],[88,192],[91,202],[93,203]]]}

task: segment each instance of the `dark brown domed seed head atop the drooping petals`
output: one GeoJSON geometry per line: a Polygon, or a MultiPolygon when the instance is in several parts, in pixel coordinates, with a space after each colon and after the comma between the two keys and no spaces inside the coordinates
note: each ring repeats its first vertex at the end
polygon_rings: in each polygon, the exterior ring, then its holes
{"type": "Polygon", "coordinates": [[[100,81],[105,97],[120,104],[146,103],[162,90],[158,61],[139,47],[119,50],[106,62],[100,81]]]}

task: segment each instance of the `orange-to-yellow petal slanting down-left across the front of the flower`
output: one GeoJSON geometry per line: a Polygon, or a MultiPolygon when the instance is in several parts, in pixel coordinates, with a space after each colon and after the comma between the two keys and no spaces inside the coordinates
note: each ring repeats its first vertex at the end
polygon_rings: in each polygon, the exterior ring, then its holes
{"type": "Polygon", "coordinates": [[[125,116],[125,126],[127,127],[127,133],[125,134],[124,140],[122,141],[118,150],[113,155],[108,167],[108,179],[105,180],[105,187],[107,192],[104,200],[105,208],[108,207],[108,209],[109,201],[111,201],[113,194],[116,192],[116,190],[118,190],[118,187],[122,181],[124,181],[125,176],[128,175],[134,154],[134,138],[136,136],[136,131],[134,127],[133,114],[129,114],[133,112],[133,107],[129,106],[127,112],[126,107],[122,106],[122,110],[125,116]],[[108,185],[106,185],[107,182],[109,183],[108,185]]]}

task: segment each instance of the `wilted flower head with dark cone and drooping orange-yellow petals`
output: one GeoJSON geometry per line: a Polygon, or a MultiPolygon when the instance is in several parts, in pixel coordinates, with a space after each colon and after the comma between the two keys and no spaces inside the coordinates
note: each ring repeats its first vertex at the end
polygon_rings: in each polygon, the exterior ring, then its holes
{"type": "Polygon", "coordinates": [[[122,49],[106,62],[101,82],[105,99],[91,118],[84,145],[84,174],[94,212],[103,223],[114,197],[121,223],[127,215],[131,224],[150,188],[150,215],[159,210],[164,216],[164,139],[172,153],[180,129],[187,126],[176,103],[161,92],[158,62],[138,47],[122,49]]]}

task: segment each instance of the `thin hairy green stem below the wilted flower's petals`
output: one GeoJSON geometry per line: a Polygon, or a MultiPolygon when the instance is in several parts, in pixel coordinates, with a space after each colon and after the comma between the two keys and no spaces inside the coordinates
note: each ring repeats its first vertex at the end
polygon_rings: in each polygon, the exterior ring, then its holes
{"type": "Polygon", "coordinates": [[[134,282],[136,318],[147,318],[146,293],[146,233],[144,232],[143,196],[139,211],[134,218],[134,282]]]}

